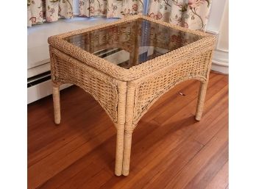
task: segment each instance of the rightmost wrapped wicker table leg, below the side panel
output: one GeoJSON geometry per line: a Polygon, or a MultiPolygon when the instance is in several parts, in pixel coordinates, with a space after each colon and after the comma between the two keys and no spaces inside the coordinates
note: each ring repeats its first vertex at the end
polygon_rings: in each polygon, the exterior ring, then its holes
{"type": "Polygon", "coordinates": [[[198,96],[197,106],[196,106],[196,120],[197,121],[200,121],[200,119],[202,118],[207,84],[208,84],[208,82],[201,82],[201,84],[200,84],[199,96],[198,96]]]}

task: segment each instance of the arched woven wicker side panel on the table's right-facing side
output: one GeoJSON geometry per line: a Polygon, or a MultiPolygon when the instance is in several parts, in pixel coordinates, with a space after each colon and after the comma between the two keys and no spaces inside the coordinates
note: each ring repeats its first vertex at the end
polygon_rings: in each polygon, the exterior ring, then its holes
{"type": "Polygon", "coordinates": [[[180,82],[188,79],[198,79],[205,82],[211,53],[212,51],[207,51],[201,56],[191,57],[190,60],[176,63],[139,82],[135,91],[133,125],[138,124],[140,118],[154,104],[154,101],[180,82]]]}

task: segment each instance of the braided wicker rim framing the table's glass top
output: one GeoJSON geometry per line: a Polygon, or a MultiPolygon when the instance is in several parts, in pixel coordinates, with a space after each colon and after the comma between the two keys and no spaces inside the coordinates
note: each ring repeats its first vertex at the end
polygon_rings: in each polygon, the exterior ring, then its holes
{"type": "Polygon", "coordinates": [[[54,48],[59,49],[60,51],[63,51],[63,53],[68,54],[71,57],[76,58],[77,60],[80,60],[82,63],[86,63],[87,65],[90,65],[91,67],[96,68],[98,71],[102,71],[103,73],[109,74],[110,76],[113,76],[113,78],[121,81],[132,81],[135,79],[139,79],[142,76],[151,74],[154,71],[157,71],[160,68],[163,68],[166,65],[169,65],[170,62],[179,61],[180,59],[185,59],[185,58],[188,59],[189,57],[193,56],[196,52],[205,51],[205,49],[209,49],[209,48],[213,49],[215,41],[216,41],[216,37],[212,35],[207,35],[203,32],[191,31],[190,29],[184,29],[179,26],[174,26],[172,24],[164,23],[161,21],[155,21],[154,19],[151,19],[145,16],[139,16],[139,15],[130,16],[121,21],[116,21],[115,23],[102,24],[101,26],[95,26],[89,29],[80,29],[74,32],[65,33],[63,35],[51,36],[49,38],[50,46],[53,46],[54,48]],[[110,63],[107,60],[104,60],[102,58],[96,57],[95,55],[90,54],[88,51],[84,51],[80,49],[78,46],[74,46],[73,44],[63,40],[63,38],[66,38],[71,35],[78,35],[82,32],[90,32],[96,29],[102,29],[105,26],[113,26],[115,24],[121,24],[137,18],[143,18],[143,19],[155,22],[157,24],[162,24],[163,26],[169,26],[174,29],[180,29],[181,31],[190,32],[190,33],[202,36],[204,38],[200,40],[196,40],[195,42],[190,43],[187,46],[182,46],[179,49],[163,54],[160,57],[156,57],[152,60],[148,60],[143,64],[133,66],[132,68],[129,68],[129,69],[121,68],[118,65],[110,63]]]}

